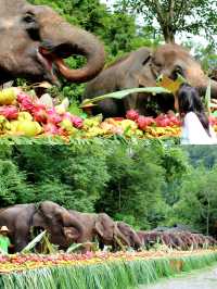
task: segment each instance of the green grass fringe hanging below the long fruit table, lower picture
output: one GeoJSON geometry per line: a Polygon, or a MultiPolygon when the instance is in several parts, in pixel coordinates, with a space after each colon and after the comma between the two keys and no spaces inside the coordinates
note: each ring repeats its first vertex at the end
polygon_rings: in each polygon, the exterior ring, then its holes
{"type": "Polygon", "coordinates": [[[0,275],[0,289],[131,289],[217,262],[217,252],[183,257],[55,266],[0,275]],[[171,265],[181,263],[177,268],[171,265]]]}

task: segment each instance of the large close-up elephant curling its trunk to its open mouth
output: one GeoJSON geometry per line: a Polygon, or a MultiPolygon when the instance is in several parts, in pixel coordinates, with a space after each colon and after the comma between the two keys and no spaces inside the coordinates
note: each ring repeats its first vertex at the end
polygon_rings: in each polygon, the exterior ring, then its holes
{"type": "Polygon", "coordinates": [[[64,21],[51,8],[25,0],[0,0],[0,85],[17,77],[59,85],[56,74],[85,83],[104,66],[104,47],[92,34],[64,21]],[[64,59],[87,58],[71,70],[64,59]]]}

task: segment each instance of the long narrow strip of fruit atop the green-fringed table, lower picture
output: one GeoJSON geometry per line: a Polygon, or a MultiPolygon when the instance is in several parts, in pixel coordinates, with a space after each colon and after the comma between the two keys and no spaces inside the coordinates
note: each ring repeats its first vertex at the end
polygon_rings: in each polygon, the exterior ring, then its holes
{"type": "Polygon", "coordinates": [[[94,265],[106,262],[118,261],[136,261],[152,260],[158,257],[183,257],[189,255],[208,254],[214,251],[199,250],[194,251],[142,251],[142,252],[87,252],[86,254],[55,254],[55,255],[38,255],[38,254],[15,254],[0,255],[0,273],[8,274],[13,272],[25,272],[28,269],[75,265],[94,265]]]}

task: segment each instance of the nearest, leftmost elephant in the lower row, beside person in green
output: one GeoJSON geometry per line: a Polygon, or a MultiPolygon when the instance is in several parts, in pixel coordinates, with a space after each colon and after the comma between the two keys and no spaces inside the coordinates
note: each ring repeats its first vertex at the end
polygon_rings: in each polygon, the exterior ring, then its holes
{"type": "Polygon", "coordinates": [[[22,251],[30,241],[30,229],[46,229],[50,241],[67,249],[82,239],[84,228],[66,209],[44,201],[37,204],[16,204],[0,210],[0,226],[7,226],[15,252],[22,251]]]}

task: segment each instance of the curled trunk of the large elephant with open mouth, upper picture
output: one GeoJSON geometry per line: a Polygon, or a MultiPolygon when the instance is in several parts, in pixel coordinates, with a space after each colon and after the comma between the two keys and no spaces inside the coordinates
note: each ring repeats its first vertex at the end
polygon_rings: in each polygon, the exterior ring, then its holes
{"type": "Polygon", "coordinates": [[[50,53],[49,46],[52,46],[52,61],[56,64],[60,74],[73,83],[86,83],[94,78],[104,66],[105,52],[103,45],[90,33],[74,27],[60,18],[56,18],[53,27],[44,25],[42,38],[52,39],[42,45],[43,56],[50,53]],[[48,36],[48,37],[47,37],[48,36]],[[51,42],[51,43],[50,43],[51,42]],[[43,50],[47,48],[48,50],[43,50]],[[87,58],[87,64],[78,70],[69,68],[63,59],[73,54],[87,58]]]}

